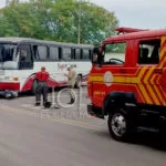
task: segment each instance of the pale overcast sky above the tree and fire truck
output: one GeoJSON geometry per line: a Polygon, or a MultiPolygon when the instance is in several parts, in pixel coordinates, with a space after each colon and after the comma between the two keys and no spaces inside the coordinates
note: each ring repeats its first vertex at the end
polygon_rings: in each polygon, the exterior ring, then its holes
{"type": "MultiPolygon", "coordinates": [[[[166,28],[166,0],[89,0],[114,11],[121,27],[166,28]]],[[[6,0],[0,0],[0,7],[6,0]]]]}

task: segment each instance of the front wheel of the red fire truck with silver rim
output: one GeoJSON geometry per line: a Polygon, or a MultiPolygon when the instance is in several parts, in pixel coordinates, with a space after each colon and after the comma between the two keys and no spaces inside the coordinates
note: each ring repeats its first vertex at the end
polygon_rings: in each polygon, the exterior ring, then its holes
{"type": "Polygon", "coordinates": [[[129,124],[122,108],[116,108],[108,115],[108,131],[111,136],[116,141],[126,141],[129,135],[129,124]]]}

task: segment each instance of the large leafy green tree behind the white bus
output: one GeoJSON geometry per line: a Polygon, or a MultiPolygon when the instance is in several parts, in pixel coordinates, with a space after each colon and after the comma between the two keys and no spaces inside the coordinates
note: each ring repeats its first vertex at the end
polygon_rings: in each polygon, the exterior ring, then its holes
{"type": "Polygon", "coordinates": [[[112,35],[117,25],[113,12],[76,0],[30,0],[25,3],[13,0],[0,10],[0,37],[98,43],[112,35]]]}

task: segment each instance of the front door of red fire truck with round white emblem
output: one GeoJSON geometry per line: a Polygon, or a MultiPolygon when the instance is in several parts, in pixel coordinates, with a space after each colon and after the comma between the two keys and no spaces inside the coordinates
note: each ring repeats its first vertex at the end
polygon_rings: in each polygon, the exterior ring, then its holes
{"type": "Polygon", "coordinates": [[[125,76],[125,55],[126,42],[106,43],[103,50],[101,64],[94,65],[91,71],[93,79],[93,103],[97,106],[103,105],[106,94],[112,91],[124,91],[125,76]]]}

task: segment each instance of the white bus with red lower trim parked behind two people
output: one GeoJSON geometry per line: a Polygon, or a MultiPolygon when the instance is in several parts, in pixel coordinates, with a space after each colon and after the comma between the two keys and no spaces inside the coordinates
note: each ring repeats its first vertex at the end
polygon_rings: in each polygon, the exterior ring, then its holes
{"type": "Polygon", "coordinates": [[[87,81],[93,45],[60,43],[24,38],[0,38],[0,91],[33,91],[35,73],[45,66],[49,86],[68,84],[66,66],[76,73],[76,85],[87,81]]]}

